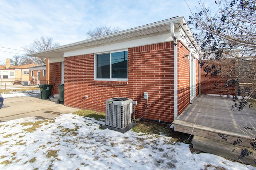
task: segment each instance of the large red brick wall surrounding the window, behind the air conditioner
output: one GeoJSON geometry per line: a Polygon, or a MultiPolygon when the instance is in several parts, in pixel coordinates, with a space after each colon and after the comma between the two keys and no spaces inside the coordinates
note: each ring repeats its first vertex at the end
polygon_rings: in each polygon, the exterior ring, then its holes
{"type": "Polygon", "coordinates": [[[65,105],[105,111],[107,99],[126,97],[138,102],[136,118],[140,118],[147,104],[143,99],[143,92],[148,92],[149,107],[143,119],[172,122],[174,119],[172,42],[129,48],[128,62],[128,82],[94,81],[93,54],[66,57],[65,105]],[[88,95],[88,98],[84,98],[85,95],[88,95]]]}

